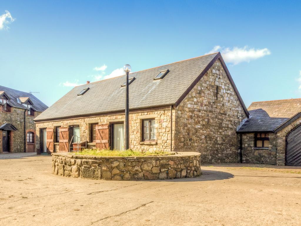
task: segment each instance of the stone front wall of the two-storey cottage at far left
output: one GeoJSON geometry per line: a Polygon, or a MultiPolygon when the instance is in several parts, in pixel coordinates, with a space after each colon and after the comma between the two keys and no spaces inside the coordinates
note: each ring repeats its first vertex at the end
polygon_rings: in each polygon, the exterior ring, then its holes
{"type": "MultiPolygon", "coordinates": [[[[11,112],[2,111],[0,107],[0,125],[9,123],[17,128],[16,131],[10,132],[10,152],[24,152],[24,109],[11,107],[11,112]]],[[[33,121],[34,117],[38,116],[40,112],[34,112],[34,116],[28,115],[26,111],[25,122],[26,128],[25,131],[32,130],[35,134],[35,141],[38,139],[36,136],[36,125],[33,121]]],[[[1,134],[2,135],[2,132],[1,134]]],[[[2,139],[2,136],[1,136],[2,139]]],[[[25,143],[27,147],[27,142],[25,143]]],[[[35,147],[30,147],[29,151],[35,150],[35,147]]],[[[28,150],[26,149],[26,152],[28,150]]],[[[0,145],[0,153],[2,152],[2,144],[0,145]]]]}

